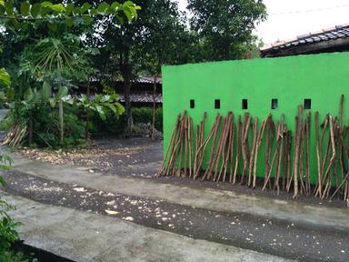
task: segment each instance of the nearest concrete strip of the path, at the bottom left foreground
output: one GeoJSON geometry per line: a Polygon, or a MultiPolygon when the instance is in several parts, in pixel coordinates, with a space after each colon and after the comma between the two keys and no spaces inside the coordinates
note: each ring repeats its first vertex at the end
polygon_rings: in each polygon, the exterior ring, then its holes
{"type": "Polygon", "coordinates": [[[11,215],[24,223],[19,231],[27,245],[75,261],[291,261],[20,196],[5,199],[17,207],[11,215]]]}

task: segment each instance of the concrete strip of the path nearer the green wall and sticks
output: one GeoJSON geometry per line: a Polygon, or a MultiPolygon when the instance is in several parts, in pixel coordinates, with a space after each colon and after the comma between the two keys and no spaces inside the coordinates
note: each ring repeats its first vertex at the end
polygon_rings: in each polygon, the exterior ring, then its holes
{"type": "Polygon", "coordinates": [[[83,167],[52,166],[44,162],[23,159],[14,155],[14,169],[65,184],[77,184],[128,196],[151,197],[171,203],[200,207],[214,211],[244,213],[274,217],[316,227],[347,232],[349,208],[321,207],[270,197],[238,194],[232,191],[203,187],[176,186],[127,176],[108,176],[90,173],[83,167]]]}

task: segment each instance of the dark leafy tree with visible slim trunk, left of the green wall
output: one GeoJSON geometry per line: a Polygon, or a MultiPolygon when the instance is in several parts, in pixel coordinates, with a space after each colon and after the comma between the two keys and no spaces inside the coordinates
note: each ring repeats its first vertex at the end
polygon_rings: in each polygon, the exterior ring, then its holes
{"type": "MultiPolygon", "coordinates": [[[[121,76],[124,80],[126,132],[132,131],[130,88],[139,72],[152,71],[160,74],[160,65],[178,61],[181,52],[178,47],[185,34],[184,20],[178,11],[177,3],[170,0],[137,0],[142,6],[135,23],[116,25],[115,19],[95,21],[95,27],[103,28],[91,43],[102,46],[98,64],[101,72],[111,78],[121,76]],[[174,56],[177,56],[174,58],[174,56]],[[169,58],[171,56],[171,58],[169,58]],[[154,65],[150,69],[147,65],[154,65]]],[[[182,52],[184,53],[184,52],[182,52]]],[[[185,62],[185,61],[184,61],[185,62]]]]}

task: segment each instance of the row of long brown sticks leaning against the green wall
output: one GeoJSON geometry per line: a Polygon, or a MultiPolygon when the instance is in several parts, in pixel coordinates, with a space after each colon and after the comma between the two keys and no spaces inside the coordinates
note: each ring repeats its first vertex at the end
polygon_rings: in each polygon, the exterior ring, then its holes
{"type": "Polygon", "coordinates": [[[320,125],[319,113],[314,114],[316,179],[311,179],[312,116],[310,111],[304,114],[303,106],[298,106],[294,135],[285,125],[284,115],[275,121],[269,114],[259,124],[258,117],[245,113],[235,117],[235,123],[234,113],[228,112],[215,116],[205,136],[207,113],[193,126],[192,118],[184,111],[175,121],[159,174],[261,186],[277,194],[293,192],[294,197],[341,196],[348,201],[349,153],[345,141],[349,127],[343,126],[343,102],[344,96],[339,119],[326,115],[320,125]],[[264,177],[258,173],[261,170],[264,177]]]}

